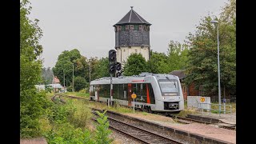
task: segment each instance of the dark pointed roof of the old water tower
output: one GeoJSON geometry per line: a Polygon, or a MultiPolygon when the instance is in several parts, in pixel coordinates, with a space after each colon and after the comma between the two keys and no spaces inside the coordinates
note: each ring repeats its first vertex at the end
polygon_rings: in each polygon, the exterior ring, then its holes
{"type": "Polygon", "coordinates": [[[151,25],[149,22],[146,22],[144,18],[138,15],[134,10],[134,6],[130,6],[131,10],[114,26],[122,24],[146,24],[151,25]]]}

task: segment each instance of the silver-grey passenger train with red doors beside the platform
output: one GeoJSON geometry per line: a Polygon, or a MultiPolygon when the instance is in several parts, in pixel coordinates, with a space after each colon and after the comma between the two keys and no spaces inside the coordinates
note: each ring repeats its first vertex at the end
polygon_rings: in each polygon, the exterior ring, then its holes
{"type": "MultiPolygon", "coordinates": [[[[182,86],[177,76],[142,73],[130,77],[112,78],[113,101],[156,112],[179,112],[184,109],[182,86]],[[135,102],[131,94],[137,94],[135,102]]],[[[110,101],[110,77],[90,82],[90,99],[110,101]]]]}

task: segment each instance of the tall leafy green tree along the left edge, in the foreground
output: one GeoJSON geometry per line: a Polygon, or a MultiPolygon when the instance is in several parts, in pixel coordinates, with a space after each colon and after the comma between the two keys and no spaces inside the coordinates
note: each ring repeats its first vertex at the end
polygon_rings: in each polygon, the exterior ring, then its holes
{"type": "Polygon", "coordinates": [[[38,118],[44,114],[46,98],[44,92],[38,92],[35,86],[42,82],[42,54],[39,39],[42,30],[38,19],[28,18],[30,10],[28,1],[20,2],[20,135],[29,138],[40,135],[38,118]]]}

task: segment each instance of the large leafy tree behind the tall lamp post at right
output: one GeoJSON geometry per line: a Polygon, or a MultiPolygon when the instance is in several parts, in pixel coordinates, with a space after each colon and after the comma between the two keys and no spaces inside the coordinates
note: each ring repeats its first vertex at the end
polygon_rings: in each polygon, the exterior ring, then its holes
{"type": "Polygon", "coordinates": [[[202,86],[206,96],[216,96],[218,94],[217,26],[210,23],[213,19],[218,20],[222,92],[225,87],[227,94],[235,93],[235,11],[235,1],[231,0],[222,9],[219,19],[216,16],[202,18],[202,22],[197,26],[196,33],[189,34],[187,37],[187,43],[191,49],[186,83],[194,82],[197,89],[202,86]]]}

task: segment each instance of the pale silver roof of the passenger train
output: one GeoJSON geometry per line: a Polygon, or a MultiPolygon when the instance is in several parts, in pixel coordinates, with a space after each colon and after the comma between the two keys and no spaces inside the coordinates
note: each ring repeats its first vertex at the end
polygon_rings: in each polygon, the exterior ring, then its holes
{"type": "MultiPolygon", "coordinates": [[[[179,80],[176,75],[171,74],[152,74],[152,73],[142,73],[133,76],[120,76],[118,78],[112,77],[112,83],[145,83],[146,78],[154,77],[158,79],[176,79],[179,80]],[[167,77],[167,78],[166,78],[167,77]]],[[[103,77],[95,79],[94,81],[90,82],[90,85],[96,84],[110,84],[110,77],[103,77]]]]}

